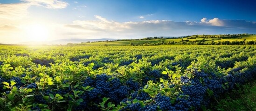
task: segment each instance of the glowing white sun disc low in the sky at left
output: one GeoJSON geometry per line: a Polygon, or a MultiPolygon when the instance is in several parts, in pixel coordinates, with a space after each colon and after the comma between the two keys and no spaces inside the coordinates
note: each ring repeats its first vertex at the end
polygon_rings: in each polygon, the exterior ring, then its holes
{"type": "Polygon", "coordinates": [[[28,25],[25,31],[29,41],[46,41],[49,37],[49,31],[45,25],[28,25]]]}

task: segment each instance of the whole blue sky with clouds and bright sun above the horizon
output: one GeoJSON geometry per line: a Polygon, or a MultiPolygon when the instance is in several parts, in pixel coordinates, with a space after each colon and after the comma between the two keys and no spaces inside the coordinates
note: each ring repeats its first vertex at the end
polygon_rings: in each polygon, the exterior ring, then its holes
{"type": "Polygon", "coordinates": [[[256,0],[0,0],[0,43],[256,34],[256,0]]]}

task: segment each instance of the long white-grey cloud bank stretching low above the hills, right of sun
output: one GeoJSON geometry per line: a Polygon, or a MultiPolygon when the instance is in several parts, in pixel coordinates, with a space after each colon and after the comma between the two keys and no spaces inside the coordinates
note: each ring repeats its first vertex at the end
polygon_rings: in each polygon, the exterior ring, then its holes
{"type": "MultiPolygon", "coordinates": [[[[201,22],[174,22],[171,20],[149,20],[141,22],[116,22],[95,15],[96,20],[75,20],[66,28],[77,32],[67,32],[69,37],[89,38],[138,38],[154,36],[185,36],[194,34],[216,33],[251,33],[256,30],[256,24],[246,21],[202,19],[201,22]],[[232,25],[234,23],[239,23],[232,25]],[[243,29],[241,29],[241,24],[243,29]],[[232,29],[232,30],[230,30],[232,29]]],[[[68,31],[68,30],[67,30],[68,31]]]]}

